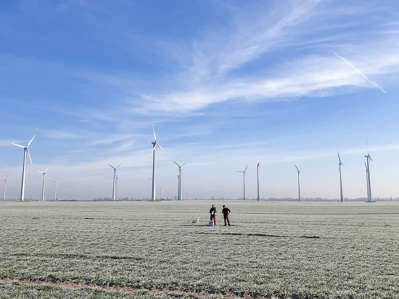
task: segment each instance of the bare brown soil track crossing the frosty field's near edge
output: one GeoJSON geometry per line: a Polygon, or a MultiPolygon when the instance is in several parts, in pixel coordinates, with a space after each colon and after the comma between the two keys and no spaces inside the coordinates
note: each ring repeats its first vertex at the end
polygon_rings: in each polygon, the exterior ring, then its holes
{"type": "Polygon", "coordinates": [[[123,292],[128,294],[139,294],[142,292],[150,293],[153,295],[167,296],[179,298],[185,295],[194,295],[199,298],[212,298],[220,296],[226,299],[316,299],[315,297],[300,296],[298,294],[276,294],[276,295],[260,295],[251,292],[243,291],[226,291],[220,292],[216,290],[198,290],[194,288],[166,288],[166,287],[139,287],[139,286],[117,286],[106,283],[91,283],[91,282],[71,282],[61,281],[57,279],[23,279],[23,278],[0,278],[0,285],[4,284],[17,284],[21,286],[50,286],[50,287],[63,287],[68,289],[98,289],[110,292],[123,292]]]}

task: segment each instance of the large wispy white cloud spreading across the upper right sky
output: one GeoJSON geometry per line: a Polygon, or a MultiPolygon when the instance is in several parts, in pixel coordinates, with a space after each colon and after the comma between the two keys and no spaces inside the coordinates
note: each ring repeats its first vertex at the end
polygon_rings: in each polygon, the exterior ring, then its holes
{"type": "MultiPolygon", "coordinates": [[[[137,113],[182,114],[226,101],[324,97],[370,88],[370,84],[386,92],[365,72],[376,77],[399,71],[399,45],[392,33],[381,31],[379,36],[374,33],[381,45],[376,51],[369,39],[353,39],[351,26],[357,27],[359,23],[348,21],[348,24],[337,24],[332,15],[327,15],[327,9],[319,8],[319,3],[292,1],[286,5],[288,8],[278,6],[269,14],[263,11],[258,14],[248,11],[242,15],[237,13],[228,29],[204,33],[201,39],[193,42],[191,49],[185,49],[190,52],[191,62],[187,62],[183,71],[174,76],[179,85],[168,85],[167,89],[161,86],[156,93],[142,92],[139,99],[134,99],[133,110],[137,113]],[[321,22],[326,25],[319,26],[321,22]],[[329,31],[331,26],[342,27],[349,33],[332,33],[329,31]],[[322,34],[323,38],[309,38],[310,33],[315,36],[322,34]],[[314,54],[296,54],[277,62],[264,59],[266,54],[269,58],[275,56],[279,49],[300,49],[306,44],[313,45],[314,54]],[[361,62],[359,68],[339,56],[351,66],[350,69],[342,67],[328,52],[331,48],[354,56],[356,59],[353,61],[361,62]],[[257,64],[255,72],[240,71],[254,63],[257,64]],[[262,64],[264,67],[261,67],[262,64]],[[363,72],[360,66],[365,66],[363,72]],[[361,76],[354,76],[353,70],[361,76]]],[[[331,9],[329,12],[339,19],[342,15],[351,16],[365,11],[348,8],[331,9]]]]}

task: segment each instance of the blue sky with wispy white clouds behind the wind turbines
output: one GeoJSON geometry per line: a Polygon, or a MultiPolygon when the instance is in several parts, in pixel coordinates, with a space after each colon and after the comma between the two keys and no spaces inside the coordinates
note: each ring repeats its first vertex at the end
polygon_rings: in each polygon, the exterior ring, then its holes
{"type": "MultiPolygon", "coordinates": [[[[19,198],[399,196],[399,2],[3,1],[0,179],[19,198]],[[162,191],[161,191],[162,190],[162,191]]],[[[0,182],[1,186],[1,182],[0,182]]],[[[0,191],[2,188],[0,187],[0,191]]],[[[0,192],[2,194],[2,192],[0,192]]]]}

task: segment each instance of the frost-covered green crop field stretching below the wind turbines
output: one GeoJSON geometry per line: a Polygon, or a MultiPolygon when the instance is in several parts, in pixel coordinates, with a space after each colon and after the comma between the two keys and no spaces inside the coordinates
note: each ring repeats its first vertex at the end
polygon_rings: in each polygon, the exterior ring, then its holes
{"type": "Polygon", "coordinates": [[[399,203],[0,202],[0,298],[399,298],[398,237],[399,203]]]}

